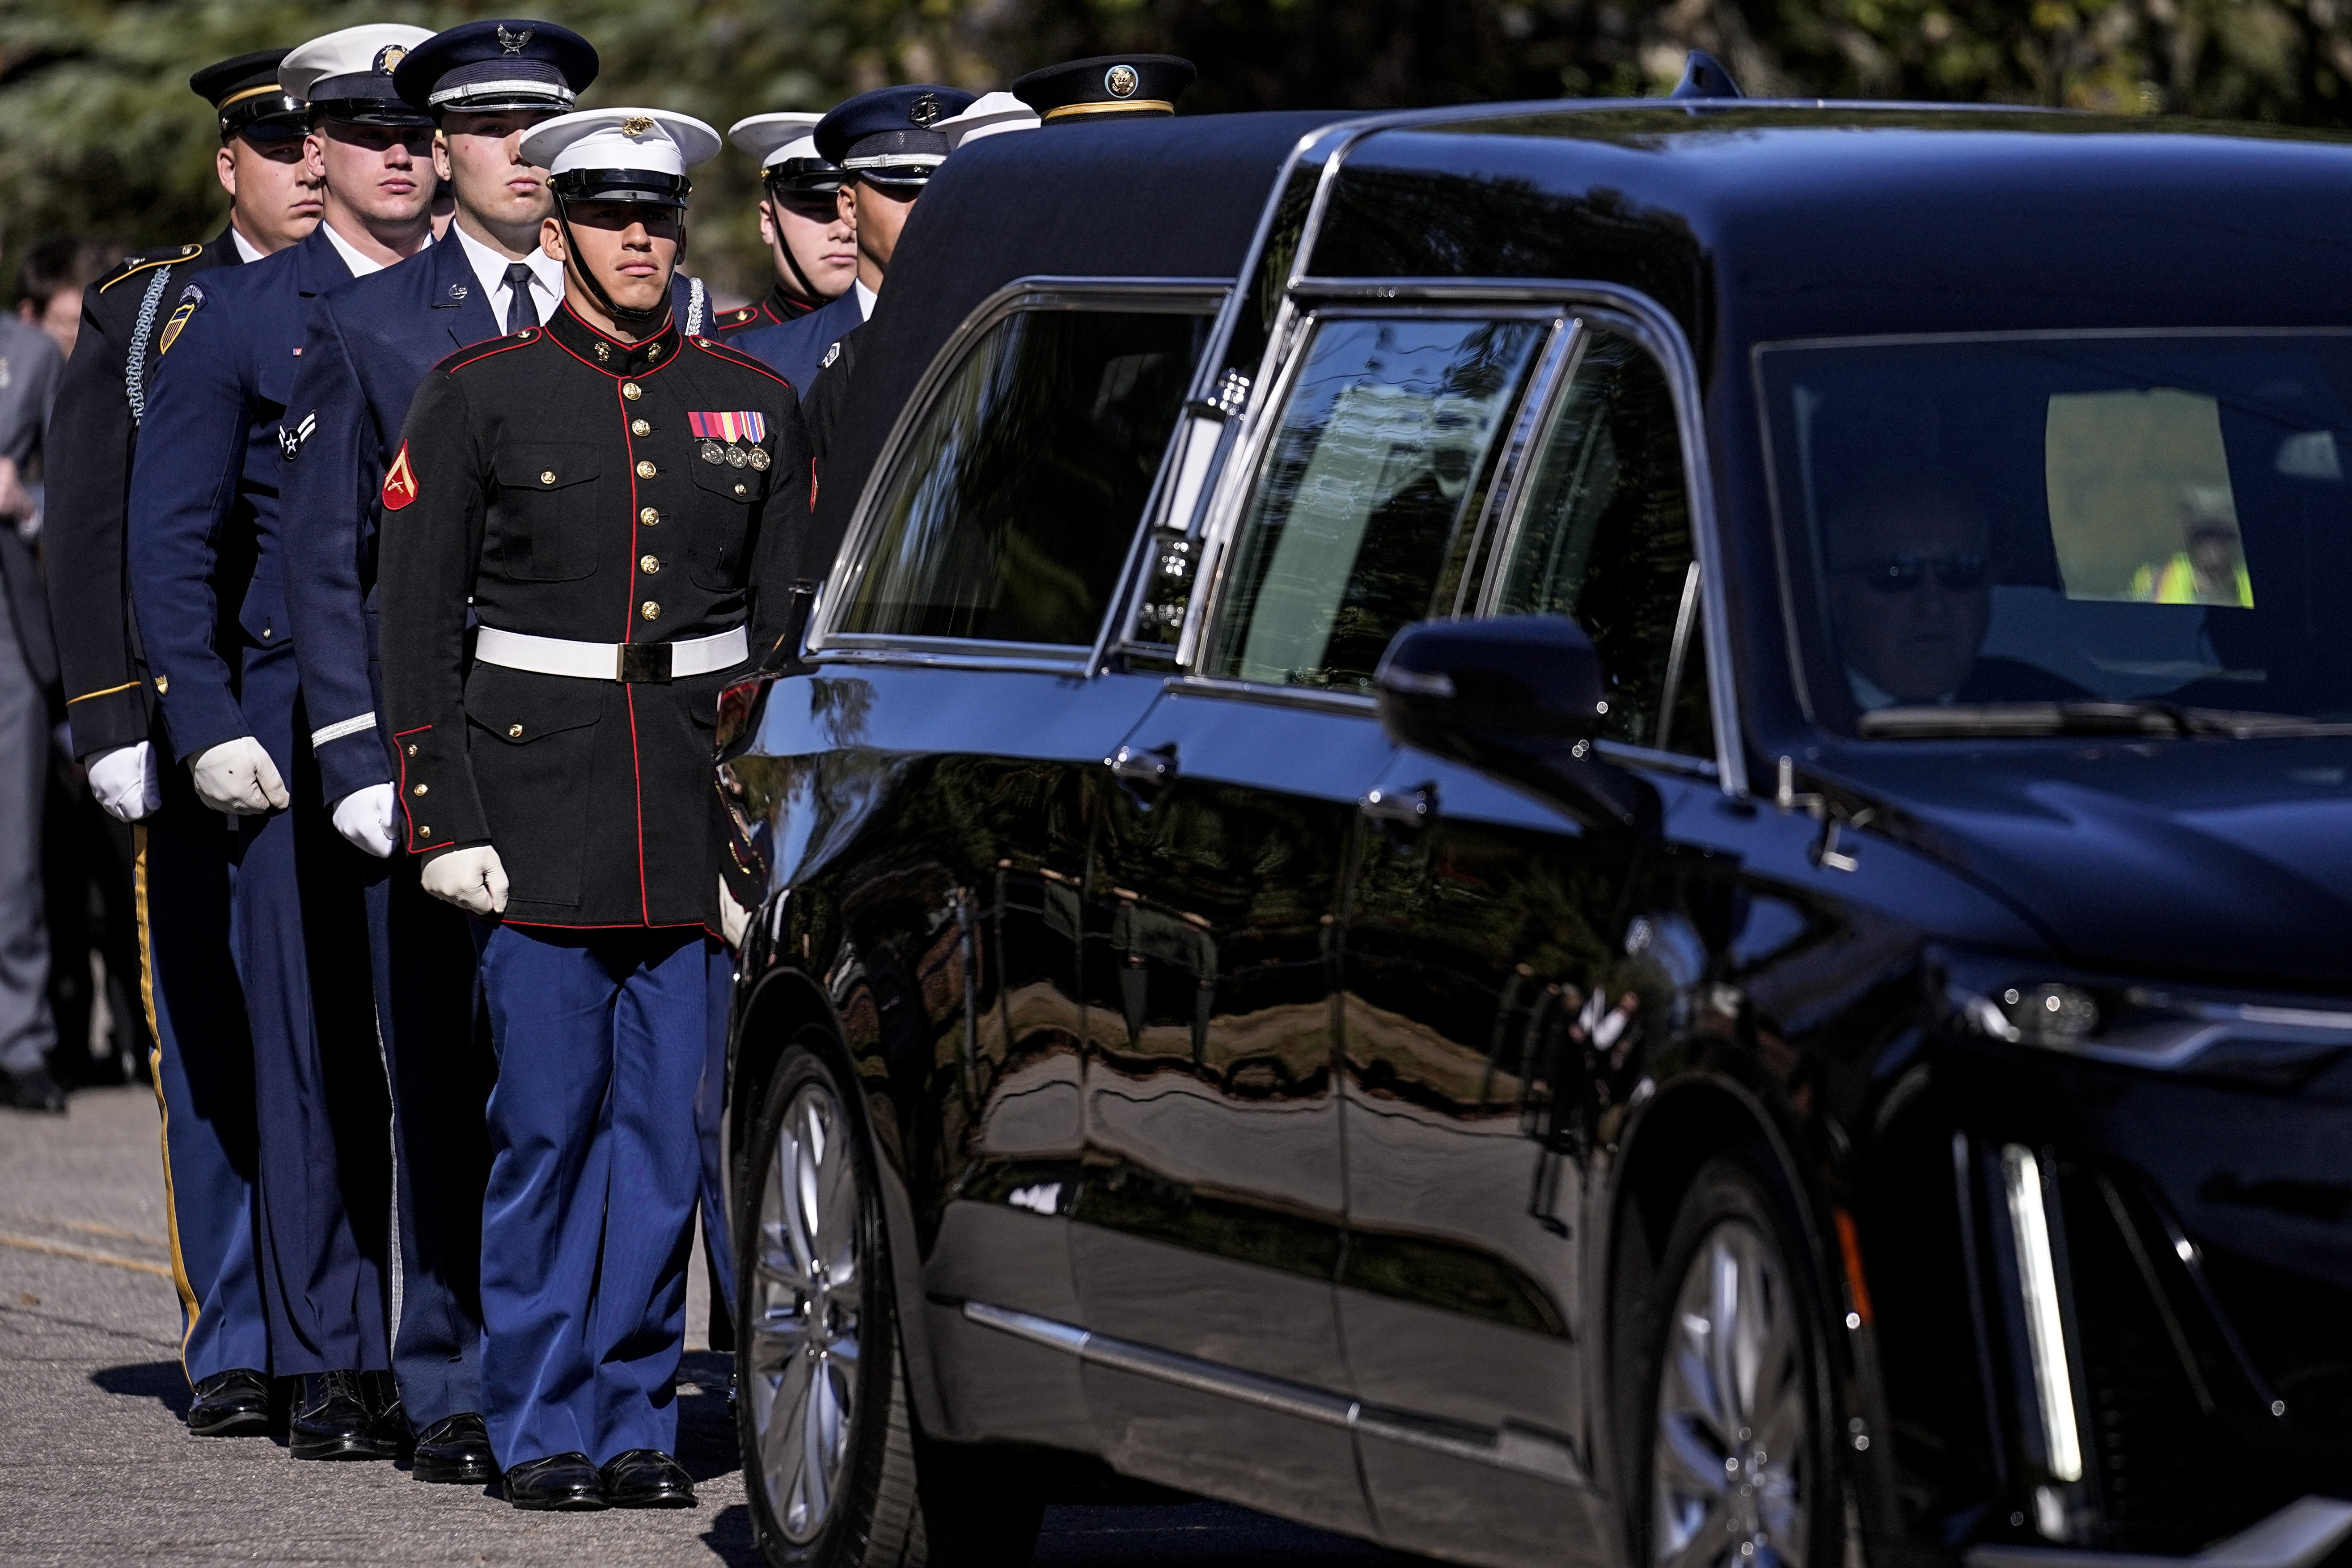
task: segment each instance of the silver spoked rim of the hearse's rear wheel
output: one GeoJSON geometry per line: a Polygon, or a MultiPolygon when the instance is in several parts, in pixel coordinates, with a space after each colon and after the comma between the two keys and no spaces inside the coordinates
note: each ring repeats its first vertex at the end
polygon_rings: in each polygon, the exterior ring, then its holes
{"type": "Polygon", "coordinates": [[[802,1084],[760,1182],[743,1396],[769,1516],[795,1547],[833,1516],[856,1420],[866,1279],[851,1138],[833,1091],[802,1084]]]}

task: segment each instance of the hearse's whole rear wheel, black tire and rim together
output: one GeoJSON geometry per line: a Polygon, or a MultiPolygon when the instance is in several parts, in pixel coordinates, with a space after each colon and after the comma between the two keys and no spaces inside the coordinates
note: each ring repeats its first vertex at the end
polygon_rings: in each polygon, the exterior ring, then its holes
{"type": "Polygon", "coordinates": [[[1042,1519],[1009,1453],[927,1443],[875,1157],[802,1032],[767,1086],[736,1215],[736,1432],[771,1568],[1016,1568],[1042,1519]],[[847,1288],[844,1288],[847,1279],[847,1288]]]}

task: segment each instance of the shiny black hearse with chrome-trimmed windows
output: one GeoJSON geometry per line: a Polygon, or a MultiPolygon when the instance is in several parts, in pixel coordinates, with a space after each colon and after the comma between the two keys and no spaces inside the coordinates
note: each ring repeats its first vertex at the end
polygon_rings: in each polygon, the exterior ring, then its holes
{"type": "Polygon", "coordinates": [[[769,1561],[2352,1533],[2352,146],[960,153],[724,769],[769,1561]]]}

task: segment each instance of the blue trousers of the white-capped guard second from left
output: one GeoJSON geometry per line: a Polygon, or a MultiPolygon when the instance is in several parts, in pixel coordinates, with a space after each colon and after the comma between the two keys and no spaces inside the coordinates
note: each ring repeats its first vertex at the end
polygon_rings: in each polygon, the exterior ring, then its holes
{"type": "Polygon", "coordinates": [[[270,1371],[388,1371],[390,1100],[367,973],[367,856],[320,802],[292,644],[247,651],[238,705],[294,797],[238,818],[230,922],[254,1034],[270,1371]]]}

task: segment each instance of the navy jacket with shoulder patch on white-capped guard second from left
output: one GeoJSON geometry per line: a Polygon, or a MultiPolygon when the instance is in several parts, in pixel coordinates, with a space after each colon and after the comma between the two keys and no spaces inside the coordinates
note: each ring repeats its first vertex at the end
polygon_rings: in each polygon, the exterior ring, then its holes
{"type": "Polygon", "coordinates": [[[280,435],[310,301],[350,268],[320,223],[261,261],[174,282],[132,465],[129,578],[174,757],[256,733],[214,623],[247,646],[292,637],[278,527],[280,435]]]}

